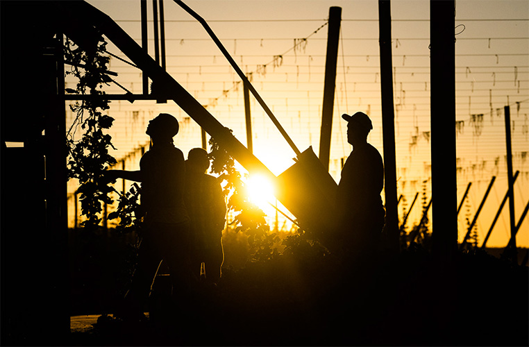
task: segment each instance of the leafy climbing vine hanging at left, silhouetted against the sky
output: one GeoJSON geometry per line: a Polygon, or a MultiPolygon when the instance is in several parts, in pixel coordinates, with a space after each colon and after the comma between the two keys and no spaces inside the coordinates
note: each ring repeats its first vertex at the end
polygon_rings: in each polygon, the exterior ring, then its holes
{"type": "Polygon", "coordinates": [[[110,101],[103,97],[102,87],[111,81],[106,74],[110,58],[105,52],[106,42],[102,37],[99,42],[94,42],[94,46],[83,48],[67,40],[64,49],[65,62],[72,67],[66,74],[78,80],[75,89],[67,88],[66,92],[83,96],[81,102],[69,106],[76,119],[67,133],[67,178],[79,181],[81,214],[86,217],[81,226],[87,230],[98,228],[102,203],[112,203],[108,194],[113,188],[101,180],[101,172],[116,163],[108,153],[109,148],[115,149],[112,137],[105,133],[114,121],[104,114],[110,108],[110,101]],[[80,140],[76,140],[74,135],[79,126],[85,132],[80,140]]]}

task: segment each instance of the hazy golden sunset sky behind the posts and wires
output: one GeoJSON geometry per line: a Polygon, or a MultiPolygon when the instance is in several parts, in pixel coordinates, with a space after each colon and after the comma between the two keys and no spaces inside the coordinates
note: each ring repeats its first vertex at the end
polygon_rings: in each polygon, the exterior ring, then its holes
{"type": "MultiPolygon", "coordinates": [[[[88,1],[140,42],[140,1],[88,1]]],[[[149,3],[149,19],[152,3],[149,3]]],[[[351,146],[340,121],[343,112],[362,110],[373,119],[369,141],[383,151],[378,56],[378,2],[369,1],[185,1],[208,23],[241,69],[273,110],[287,133],[303,151],[319,149],[321,100],[324,87],[326,19],[330,6],[342,8],[342,32],[330,174],[339,180],[340,158],[351,146]],[[306,41],[299,40],[307,38],[306,41]],[[294,46],[296,47],[294,49],[294,46]]],[[[239,78],[221,56],[203,28],[174,1],[164,2],[167,70],[208,110],[232,128],[246,144],[244,103],[239,78]]],[[[529,113],[529,1],[456,2],[456,119],[458,199],[472,182],[469,201],[460,214],[460,239],[465,218],[472,218],[492,176],[497,176],[478,219],[480,242],[485,237],[506,189],[503,106],[511,105],[514,170],[521,171],[515,186],[516,215],[529,199],[527,153],[529,113]],[[467,207],[468,205],[468,207],[467,207]]],[[[398,194],[410,205],[416,192],[430,194],[430,77],[429,1],[392,1],[394,104],[398,194]],[[426,183],[423,185],[423,180],[426,183]]],[[[149,35],[153,38],[152,23],[149,35]]],[[[150,41],[153,55],[153,41],[150,41]]],[[[122,56],[109,45],[109,50],[122,56]]],[[[124,57],[125,58],[125,57],[124,57]]],[[[132,92],[141,91],[140,71],[112,60],[117,81],[132,92]]],[[[121,93],[115,85],[108,92],[121,93]]],[[[111,130],[124,158],[148,140],[146,121],[157,112],[174,114],[183,124],[176,145],[187,153],[201,145],[199,128],[172,101],[167,104],[114,101],[110,114],[117,119],[111,130]]],[[[252,102],[255,155],[280,174],[293,164],[294,152],[252,102]]],[[[137,160],[130,156],[131,169],[137,160]]],[[[137,169],[137,167],[136,167],[137,169]]],[[[403,204],[399,205],[402,214],[403,204]]],[[[419,205],[411,219],[420,217],[419,205]]],[[[410,223],[411,224],[411,223],[410,223]]],[[[507,209],[494,228],[489,246],[505,246],[507,209]]],[[[521,226],[519,245],[529,245],[529,222],[521,226]]]]}

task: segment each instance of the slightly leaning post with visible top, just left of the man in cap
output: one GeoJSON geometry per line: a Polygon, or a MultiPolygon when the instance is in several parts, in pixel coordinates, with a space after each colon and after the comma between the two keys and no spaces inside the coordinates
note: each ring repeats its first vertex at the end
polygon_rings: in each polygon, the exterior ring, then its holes
{"type": "Polygon", "coordinates": [[[339,28],[342,22],[342,8],[329,8],[327,33],[327,56],[325,62],[324,103],[321,111],[321,132],[319,137],[319,160],[329,170],[330,134],[333,130],[333,107],[335,103],[336,62],[338,60],[339,28]]]}

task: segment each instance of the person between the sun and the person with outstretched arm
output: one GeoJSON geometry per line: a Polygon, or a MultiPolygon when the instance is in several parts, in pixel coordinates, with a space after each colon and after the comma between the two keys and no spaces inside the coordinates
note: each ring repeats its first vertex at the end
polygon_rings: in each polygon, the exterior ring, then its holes
{"type": "Polygon", "coordinates": [[[186,160],[185,205],[191,219],[191,266],[199,274],[205,264],[205,278],[217,283],[221,278],[224,251],[222,230],[226,222],[226,202],[222,188],[214,176],[205,174],[210,167],[204,149],[192,149],[186,160]]]}

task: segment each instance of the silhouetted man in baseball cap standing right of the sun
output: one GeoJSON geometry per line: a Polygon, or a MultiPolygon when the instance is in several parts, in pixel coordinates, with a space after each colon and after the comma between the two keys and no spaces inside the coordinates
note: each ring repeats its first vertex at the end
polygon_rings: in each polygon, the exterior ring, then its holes
{"type": "Polygon", "coordinates": [[[347,142],[353,151],[342,169],[337,189],[337,237],[353,266],[377,262],[385,210],[380,198],[384,166],[377,149],[367,143],[373,129],[363,112],[342,115],[347,124],[347,142]],[[357,264],[355,264],[357,263],[357,264]]]}

